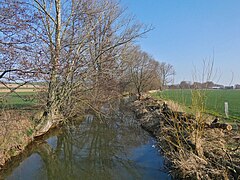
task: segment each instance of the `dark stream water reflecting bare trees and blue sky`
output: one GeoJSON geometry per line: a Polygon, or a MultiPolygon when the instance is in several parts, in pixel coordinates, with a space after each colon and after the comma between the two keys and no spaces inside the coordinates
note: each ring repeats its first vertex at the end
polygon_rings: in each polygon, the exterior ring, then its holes
{"type": "Polygon", "coordinates": [[[4,179],[171,179],[156,141],[127,111],[87,115],[38,140],[17,161],[4,179]]]}

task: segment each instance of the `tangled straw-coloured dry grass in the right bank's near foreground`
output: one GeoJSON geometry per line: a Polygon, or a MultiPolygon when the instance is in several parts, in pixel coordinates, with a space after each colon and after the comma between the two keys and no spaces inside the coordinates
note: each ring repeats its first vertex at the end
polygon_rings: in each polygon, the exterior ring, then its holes
{"type": "MultiPolygon", "coordinates": [[[[176,120],[178,121],[178,120],[176,120]]],[[[173,166],[173,176],[184,179],[231,179],[240,164],[240,148],[228,148],[234,133],[218,128],[204,128],[195,137],[192,127],[180,128],[165,123],[158,131],[159,144],[173,166]],[[197,143],[195,141],[198,141],[197,143]]],[[[234,148],[239,144],[235,140],[234,148]]]]}

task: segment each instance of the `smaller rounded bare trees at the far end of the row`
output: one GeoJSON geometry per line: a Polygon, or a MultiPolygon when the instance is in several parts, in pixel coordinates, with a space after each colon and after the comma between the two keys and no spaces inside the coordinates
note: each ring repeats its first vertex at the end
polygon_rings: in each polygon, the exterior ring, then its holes
{"type": "Polygon", "coordinates": [[[120,81],[120,89],[137,93],[141,97],[142,92],[153,89],[164,89],[167,84],[173,82],[175,70],[171,64],[156,61],[137,46],[129,47],[125,57],[127,66],[120,81]]]}

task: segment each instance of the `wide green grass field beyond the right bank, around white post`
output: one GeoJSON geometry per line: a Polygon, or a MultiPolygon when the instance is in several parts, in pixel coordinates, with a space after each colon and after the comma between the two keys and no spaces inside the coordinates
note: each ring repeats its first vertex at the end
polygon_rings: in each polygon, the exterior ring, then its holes
{"type": "MultiPolygon", "coordinates": [[[[204,94],[207,113],[225,116],[224,102],[228,102],[229,117],[240,120],[240,90],[198,90],[204,94]]],[[[152,95],[157,98],[170,99],[179,104],[191,107],[193,90],[165,90],[152,95]]]]}

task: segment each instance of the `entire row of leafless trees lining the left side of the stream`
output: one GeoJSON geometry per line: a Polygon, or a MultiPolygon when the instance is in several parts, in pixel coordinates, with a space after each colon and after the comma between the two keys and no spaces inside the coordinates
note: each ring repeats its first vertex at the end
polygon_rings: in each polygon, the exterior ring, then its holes
{"type": "Polygon", "coordinates": [[[139,96],[162,88],[175,72],[139,47],[152,28],[136,23],[112,0],[3,0],[0,3],[0,80],[19,86],[46,82],[37,129],[47,131],[79,106],[96,108],[122,91],[139,96]]]}

